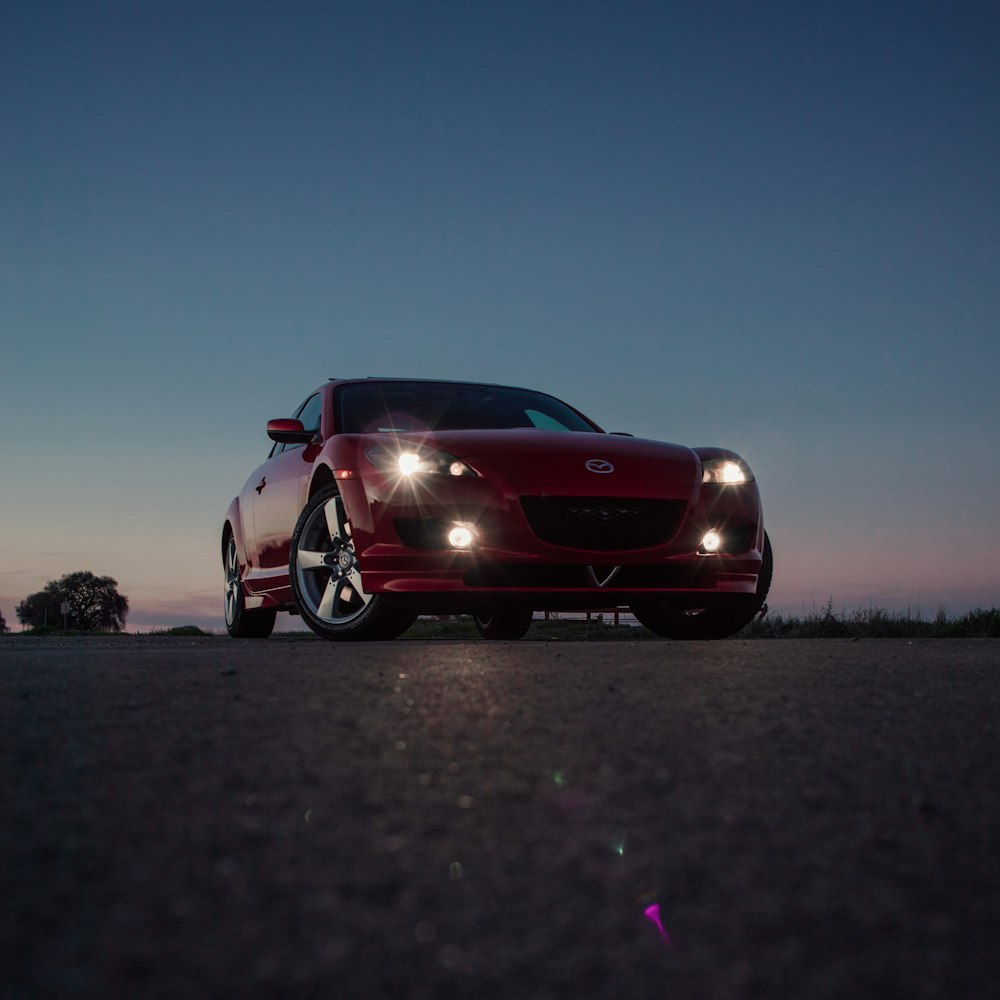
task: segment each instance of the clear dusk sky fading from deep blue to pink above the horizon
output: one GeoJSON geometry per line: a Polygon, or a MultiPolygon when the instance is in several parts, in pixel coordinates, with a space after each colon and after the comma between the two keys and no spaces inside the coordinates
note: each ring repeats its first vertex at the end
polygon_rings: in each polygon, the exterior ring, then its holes
{"type": "Polygon", "coordinates": [[[1000,7],[8,5],[0,610],[222,627],[264,423],[511,382],[742,452],[772,608],[1000,604],[1000,7]]]}

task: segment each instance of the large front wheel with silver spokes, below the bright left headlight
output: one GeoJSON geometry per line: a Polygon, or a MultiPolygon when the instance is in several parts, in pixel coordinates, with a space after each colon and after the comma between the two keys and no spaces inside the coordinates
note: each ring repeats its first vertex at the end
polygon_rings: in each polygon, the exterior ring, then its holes
{"type": "Polygon", "coordinates": [[[351,524],[333,484],[315,493],[292,532],[288,576],[305,623],[324,639],[395,639],[416,620],[366,593],[351,524]]]}

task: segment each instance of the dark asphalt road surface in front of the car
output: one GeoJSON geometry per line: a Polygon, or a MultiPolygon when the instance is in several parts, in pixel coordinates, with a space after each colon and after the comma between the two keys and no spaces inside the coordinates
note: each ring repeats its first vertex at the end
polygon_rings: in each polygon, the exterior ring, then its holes
{"type": "Polygon", "coordinates": [[[992,998],[998,747],[997,640],[7,637],[0,996],[992,998]]]}

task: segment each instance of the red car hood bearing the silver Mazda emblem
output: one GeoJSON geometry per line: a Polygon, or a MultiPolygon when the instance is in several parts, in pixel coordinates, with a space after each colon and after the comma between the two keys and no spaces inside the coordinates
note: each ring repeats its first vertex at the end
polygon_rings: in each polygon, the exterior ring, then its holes
{"type": "Polygon", "coordinates": [[[690,500],[701,484],[701,463],[689,448],[616,434],[443,431],[423,444],[522,494],[690,500]]]}

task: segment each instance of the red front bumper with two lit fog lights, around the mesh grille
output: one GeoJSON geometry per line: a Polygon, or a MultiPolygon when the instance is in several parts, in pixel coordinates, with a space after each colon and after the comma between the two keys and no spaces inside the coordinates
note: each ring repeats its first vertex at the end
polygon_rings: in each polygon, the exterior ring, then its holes
{"type": "MultiPolygon", "coordinates": [[[[641,601],[708,607],[752,598],[757,588],[764,529],[754,483],[703,488],[694,501],[655,498],[679,505],[676,523],[663,529],[666,537],[657,544],[639,548],[608,548],[621,536],[607,533],[591,541],[600,548],[544,541],[529,523],[522,498],[481,480],[448,483],[446,498],[390,490],[380,480],[341,485],[365,590],[427,612],[497,603],[537,610],[641,601]],[[448,529],[455,525],[471,529],[469,548],[448,546],[448,529]],[[699,551],[710,529],[728,540],[712,554],[699,551]]],[[[603,510],[597,513],[603,523],[603,510]]],[[[648,540],[638,537],[640,543],[648,540]]]]}

